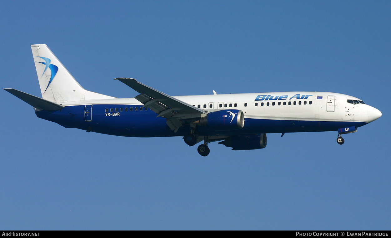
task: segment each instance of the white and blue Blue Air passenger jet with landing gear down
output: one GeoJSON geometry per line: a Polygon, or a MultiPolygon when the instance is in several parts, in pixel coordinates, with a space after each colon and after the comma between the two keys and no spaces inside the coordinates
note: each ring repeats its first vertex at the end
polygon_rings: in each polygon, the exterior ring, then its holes
{"type": "Polygon", "coordinates": [[[262,92],[169,96],[133,78],[115,78],[139,95],[115,98],[85,90],[46,44],[31,45],[42,98],[4,89],[32,107],[39,118],[65,128],[125,137],[180,136],[201,156],[208,144],[233,150],[262,149],[267,133],[338,131],[341,135],[382,113],[361,99],[334,92],[262,92]]]}

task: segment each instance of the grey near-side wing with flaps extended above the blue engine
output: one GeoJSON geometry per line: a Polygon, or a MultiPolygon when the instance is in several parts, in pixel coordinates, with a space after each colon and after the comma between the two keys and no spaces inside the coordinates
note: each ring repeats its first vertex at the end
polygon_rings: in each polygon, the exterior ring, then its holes
{"type": "Polygon", "coordinates": [[[119,80],[139,92],[140,95],[135,98],[144,105],[143,107],[148,107],[158,114],[156,117],[166,118],[167,124],[175,132],[184,124],[181,119],[199,118],[201,114],[206,113],[201,108],[173,98],[138,82],[134,78],[115,78],[115,80],[119,80]]]}

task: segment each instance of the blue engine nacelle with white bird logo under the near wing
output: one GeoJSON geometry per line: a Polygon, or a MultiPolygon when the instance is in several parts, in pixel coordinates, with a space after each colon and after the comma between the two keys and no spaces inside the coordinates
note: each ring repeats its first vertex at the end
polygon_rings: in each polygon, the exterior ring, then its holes
{"type": "Polygon", "coordinates": [[[244,127],[244,114],[236,109],[210,112],[199,120],[199,124],[210,130],[239,130],[244,127]]]}

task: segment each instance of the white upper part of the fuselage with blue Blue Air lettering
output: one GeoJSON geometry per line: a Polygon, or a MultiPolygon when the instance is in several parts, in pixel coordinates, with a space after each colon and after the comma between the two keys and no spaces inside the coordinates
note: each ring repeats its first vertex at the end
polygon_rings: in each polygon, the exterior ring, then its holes
{"type": "MultiPolygon", "coordinates": [[[[174,96],[207,111],[238,109],[246,118],[300,121],[355,121],[370,123],[382,114],[363,103],[348,103],[358,98],[333,92],[265,92],[174,96]],[[334,97],[330,97],[334,96],[334,97]],[[328,101],[329,98],[329,101],[328,101]],[[332,109],[330,109],[332,108],[332,109]]],[[[143,105],[135,98],[113,98],[64,102],[67,105],[108,104],[143,105]]]]}

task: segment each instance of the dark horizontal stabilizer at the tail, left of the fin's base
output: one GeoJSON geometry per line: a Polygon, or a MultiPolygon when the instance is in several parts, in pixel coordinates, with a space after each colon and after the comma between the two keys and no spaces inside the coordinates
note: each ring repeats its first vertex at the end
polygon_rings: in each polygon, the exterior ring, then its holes
{"type": "Polygon", "coordinates": [[[14,96],[22,99],[26,103],[29,103],[31,106],[42,109],[42,110],[59,110],[64,108],[64,106],[59,105],[57,103],[38,98],[36,96],[33,96],[31,94],[16,90],[16,89],[4,89],[5,91],[13,94],[14,96]]]}

